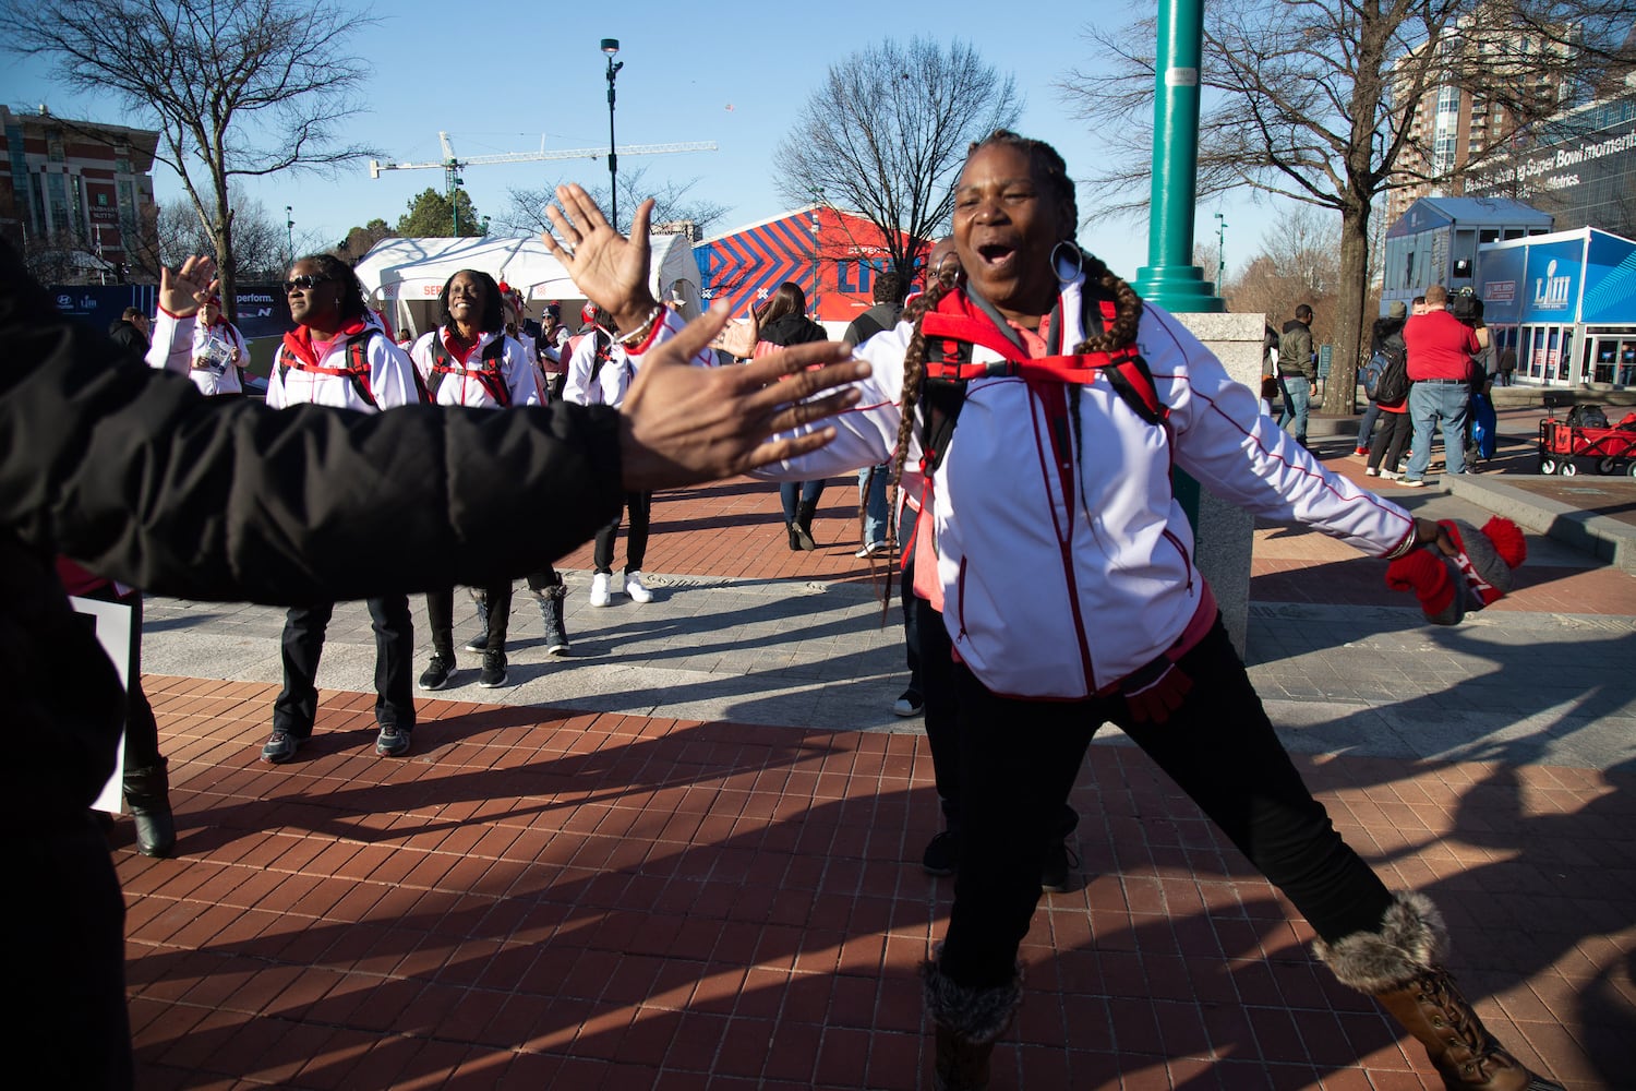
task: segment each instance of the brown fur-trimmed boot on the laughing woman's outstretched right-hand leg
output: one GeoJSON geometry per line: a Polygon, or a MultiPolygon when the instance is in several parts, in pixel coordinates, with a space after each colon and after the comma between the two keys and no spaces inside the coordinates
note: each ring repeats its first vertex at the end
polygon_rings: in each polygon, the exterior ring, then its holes
{"type": "Polygon", "coordinates": [[[1312,952],[1343,985],[1369,993],[1415,1035],[1448,1091],[1562,1091],[1523,1068],[1487,1032],[1440,965],[1448,931],[1430,898],[1399,895],[1379,932],[1353,932],[1312,952]]]}

